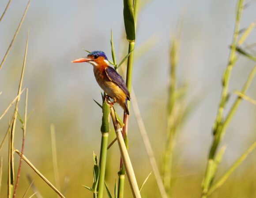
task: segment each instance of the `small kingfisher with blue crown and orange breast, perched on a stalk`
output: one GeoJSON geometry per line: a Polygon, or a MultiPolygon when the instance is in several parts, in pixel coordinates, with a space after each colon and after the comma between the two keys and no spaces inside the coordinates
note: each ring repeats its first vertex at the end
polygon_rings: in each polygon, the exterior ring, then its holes
{"type": "Polygon", "coordinates": [[[129,114],[127,101],[131,99],[130,93],[123,78],[109,66],[108,58],[103,51],[92,51],[87,57],[72,62],[89,62],[92,64],[94,76],[100,87],[113,99],[113,103],[119,103],[124,112],[129,114]]]}

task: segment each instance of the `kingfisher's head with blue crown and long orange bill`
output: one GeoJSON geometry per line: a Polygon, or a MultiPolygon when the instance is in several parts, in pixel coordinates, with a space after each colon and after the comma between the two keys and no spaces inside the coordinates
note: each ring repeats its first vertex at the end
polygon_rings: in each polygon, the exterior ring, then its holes
{"type": "Polygon", "coordinates": [[[89,62],[93,66],[109,65],[108,58],[103,51],[92,51],[87,57],[76,59],[71,62],[89,62]]]}

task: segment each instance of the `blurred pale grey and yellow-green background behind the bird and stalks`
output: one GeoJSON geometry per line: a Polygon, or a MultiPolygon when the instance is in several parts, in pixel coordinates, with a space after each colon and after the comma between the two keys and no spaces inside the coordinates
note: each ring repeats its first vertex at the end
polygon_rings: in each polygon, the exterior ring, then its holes
{"type": "MultiPolygon", "coordinates": [[[[0,13],[7,0],[0,1],[0,13]]],[[[146,125],[155,157],[161,168],[162,151],[166,141],[166,106],[168,99],[170,34],[177,29],[183,15],[180,59],[177,67],[177,86],[186,84],[184,105],[198,98],[191,113],[177,134],[173,158],[172,196],[199,197],[212,141],[212,125],[221,93],[222,73],[226,68],[235,22],[236,1],[233,0],[151,0],[142,1],[136,33],[136,48],[151,40],[143,56],[136,56],[133,87],[146,125]]],[[[256,19],[256,1],[246,1],[241,29],[256,19]]],[[[26,1],[11,2],[0,22],[0,59],[11,42],[26,1]]],[[[86,56],[83,49],[105,51],[111,60],[110,31],[113,30],[117,62],[127,54],[124,41],[123,2],[32,0],[23,26],[0,70],[0,112],[17,94],[23,63],[26,34],[30,29],[27,63],[23,88],[28,87],[28,120],[24,154],[54,184],[50,124],[56,128],[57,160],[61,188],[67,197],[92,197],[82,185],[92,185],[93,151],[99,155],[102,110],[93,99],[101,102],[101,92],[95,81],[92,66],[70,61],[86,56]],[[66,182],[64,182],[66,181],[66,182]],[[66,187],[64,187],[66,186],[66,187]]],[[[255,43],[256,31],[246,40],[255,43]]],[[[136,49],[135,49],[136,55],[136,49]]],[[[240,57],[233,68],[230,81],[230,100],[233,90],[241,90],[255,63],[240,57]]],[[[124,64],[125,66],[125,64],[124,64]]],[[[256,79],[247,95],[256,99],[256,79]]],[[[24,111],[24,95],[19,112],[24,111]]],[[[231,104],[231,103],[230,103],[231,104]]],[[[116,106],[121,114],[119,106],[116,106]]],[[[230,106],[227,106],[229,110],[230,106]]],[[[13,108],[0,121],[0,139],[8,128],[13,108]]],[[[226,115],[226,112],[224,112],[226,115]]],[[[222,141],[227,145],[217,177],[256,139],[256,106],[243,101],[222,141]]],[[[17,122],[15,147],[20,149],[22,130],[17,122]]],[[[112,130],[110,140],[115,134],[112,130]]],[[[151,166],[131,110],[129,121],[129,153],[139,185],[151,172],[151,166]]],[[[1,154],[4,157],[1,197],[7,195],[8,141],[1,154]]],[[[108,153],[106,182],[113,192],[118,179],[120,153],[115,143],[108,153]]],[[[19,158],[15,155],[15,167],[19,158]]],[[[252,153],[211,197],[256,197],[256,153],[252,153]]],[[[56,194],[25,162],[17,197],[21,197],[29,174],[45,198],[56,194]]],[[[33,191],[30,189],[30,194],[33,191]]],[[[126,180],[125,197],[132,197],[126,180]]],[[[143,187],[143,197],[160,197],[153,174],[143,187]],[[152,190],[154,189],[154,190],[152,190]]],[[[107,194],[105,193],[105,197],[107,194]]]]}

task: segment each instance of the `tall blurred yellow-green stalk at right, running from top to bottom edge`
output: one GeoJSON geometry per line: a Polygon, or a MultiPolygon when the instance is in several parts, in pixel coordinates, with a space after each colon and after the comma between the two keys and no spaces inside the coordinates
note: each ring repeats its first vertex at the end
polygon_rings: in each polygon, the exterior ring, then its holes
{"type": "MultiPolygon", "coordinates": [[[[209,187],[211,186],[212,181],[215,177],[215,173],[216,173],[216,169],[217,169],[217,165],[216,165],[217,162],[216,162],[215,156],[216,156],[216,151],[218,149],[218,145],[222,139],[222,136],[224,135],[224,133],[226,131],[226,128],[229,124],[230,118],[233,116],[234,112],[236,111],[236,109],[239,105],[239,103],[235,102],[234,106],[230,110],[230,114],[228,114],[228,116],[226,117],[226,120],[223,121],[223,112],[224,112],[226,103],[228,101],[228,88],[229,88],[229,82],[230,82],[230,75],[231,75],[231,71],[233,69],[235,62],[237,61],[236,47],[237,47],[237,43],[238,43],[238,34],[239,34],[243,6],[244,6],[244,0],[238,0],[237,11],[236,11],[236,23],[235,23],[234,33],[233,33],[233,41],[232,41],[232,45],[231,45],[229,63],[228,63],[228,66],[226,67],[225,72],[223,73],[222,95],[221,95],[221,100],[220,100],[219,107],[218,107],[218,114],[216,116],[216,120],[215,120],[214,127],[213,127],[214,139],[213,139],[212,146],[211,146],[209,156],[208,156],[207,169],[206,169],[205,176],[204,176],[203,182],[202,182],[202,197],[203,198],[207,197],[207,191],[209,190],[209,187]]],[[[246,86],[246,87],[248,87],[248,86],[246,86]]],[[[247,89],[247,88],[245,88],[245,89],[247,89]]]]}

